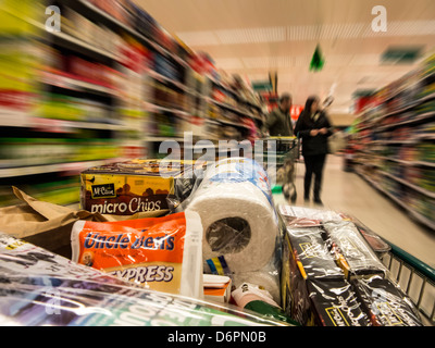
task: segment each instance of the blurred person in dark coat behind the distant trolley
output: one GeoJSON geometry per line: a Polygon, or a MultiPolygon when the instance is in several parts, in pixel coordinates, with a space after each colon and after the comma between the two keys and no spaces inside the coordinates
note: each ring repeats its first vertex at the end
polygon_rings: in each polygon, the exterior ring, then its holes
{"type": "Polygon", "coordinates": [[[269,115],[265,122],[265,128],[270,136],[293,137],[294,129],[290,117],[291,96],[283,94],[279,98],[279,104],[269,115]]]}

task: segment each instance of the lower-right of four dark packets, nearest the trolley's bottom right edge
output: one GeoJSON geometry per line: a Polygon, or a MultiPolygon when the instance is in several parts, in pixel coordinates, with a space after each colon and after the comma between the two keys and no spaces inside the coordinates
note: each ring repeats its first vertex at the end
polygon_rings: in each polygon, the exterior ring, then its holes
{"type": "Polygon", "coordinates": [[[423,326],[412,301],[390,281],[374,275],[351,284],[374,326],[423,326]]]}

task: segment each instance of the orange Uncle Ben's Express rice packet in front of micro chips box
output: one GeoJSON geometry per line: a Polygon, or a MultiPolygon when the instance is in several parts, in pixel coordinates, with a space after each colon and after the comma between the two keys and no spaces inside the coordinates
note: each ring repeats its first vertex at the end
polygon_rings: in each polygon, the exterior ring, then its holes
{"type": "Polygon", "coordinates": [[[116,222],[77,221],[73,261],[146,288],[202,298],[202,225],[185,211],[116,222]]]}

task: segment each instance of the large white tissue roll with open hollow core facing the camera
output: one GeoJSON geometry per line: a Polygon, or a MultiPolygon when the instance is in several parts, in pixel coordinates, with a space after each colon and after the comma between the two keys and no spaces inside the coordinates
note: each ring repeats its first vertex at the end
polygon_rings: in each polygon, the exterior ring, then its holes
{"type": "Polygon", "coordinates": [[[237,274],[259,271],[274,256],[276,212],[268,176],[257,162],[245,158],[219,161],[206,172],[188,208],[201,216],[204,263],[224,256],[231,272],[237,274]]]}

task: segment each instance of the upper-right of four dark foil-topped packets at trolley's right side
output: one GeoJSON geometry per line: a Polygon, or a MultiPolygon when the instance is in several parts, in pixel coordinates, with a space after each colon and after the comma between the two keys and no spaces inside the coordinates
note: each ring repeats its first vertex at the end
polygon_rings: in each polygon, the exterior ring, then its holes
{"type": "Polygon", "coordinates": [[[352,222],[325,222],[323,226],[347,278],[387,274],[387,269],[352,222]]]}

